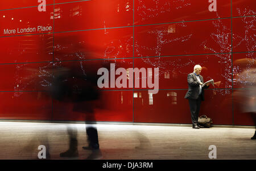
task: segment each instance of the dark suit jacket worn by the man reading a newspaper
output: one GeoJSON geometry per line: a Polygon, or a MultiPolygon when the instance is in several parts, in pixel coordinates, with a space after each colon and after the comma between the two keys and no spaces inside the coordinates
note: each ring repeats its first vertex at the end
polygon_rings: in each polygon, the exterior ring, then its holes
{"type": "MultiPolygon", "coordinates": [[[[202,83],[204,83],[203,76],[199,75],[199,78],[202,83]]],[[[200,83],[196,78],[196,75],[192,73],[188,74],[188,91],[185,95],[185,99],[198,99],[199,97],[199,90],[200,90],[200,83]]],[[[209,86],[202,87],[201,93],[201,100],[204,101],[204,89],[208,88],[209,86]]]]}

